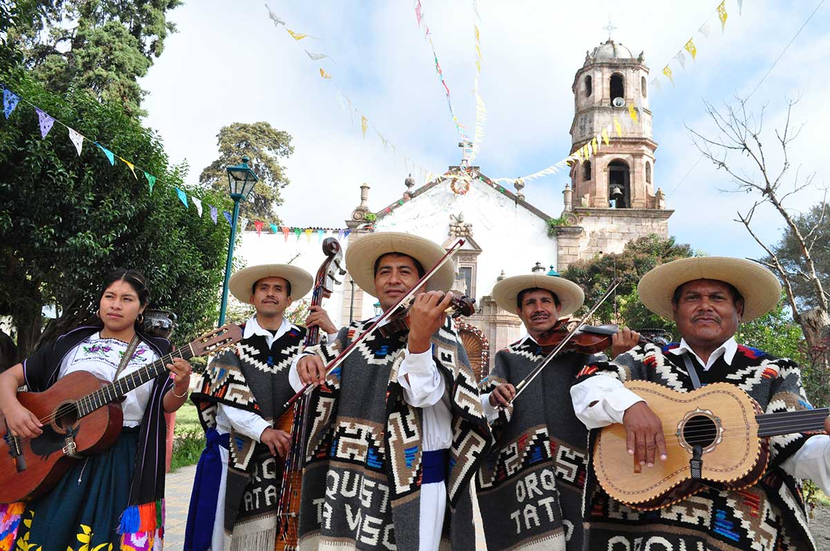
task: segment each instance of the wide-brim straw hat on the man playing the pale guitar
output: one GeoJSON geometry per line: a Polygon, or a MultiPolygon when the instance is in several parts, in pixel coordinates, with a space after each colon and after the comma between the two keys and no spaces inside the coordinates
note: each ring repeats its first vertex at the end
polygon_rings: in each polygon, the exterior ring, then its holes
{"type": "Polygon", "coordinates": [[[719,280],[744,297],[741,321],[752,321],[772,310],[781,299],[781,284],[757,262],[729,256],[695,256],[657,266],[642,276],[637,293],[648,310],[674,319],[671,297],[677,287],[694,280],[719,280]]]}

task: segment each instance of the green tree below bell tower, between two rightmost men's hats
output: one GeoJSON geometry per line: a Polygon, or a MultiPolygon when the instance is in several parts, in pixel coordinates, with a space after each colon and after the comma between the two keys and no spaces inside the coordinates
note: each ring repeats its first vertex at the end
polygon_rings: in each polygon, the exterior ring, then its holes
{"type": "Polygon", "coordinates": [[[577,315],[585,314],[608,290],[614,277],[620,280],[616,296],[607,300],[595,317],[603,322],[626,324],[632,328],[669,328],[671,320],[652,314],[640,303],[637,283],[653,267],[693,256],[691,246],[676,243],[674,237],[661,237],[652,233],[626,243],[623,252],[595,256],[588,261],[578,261],[568,266],[562,276],[574,281],[585,291],[585,306],[577,315]]]}

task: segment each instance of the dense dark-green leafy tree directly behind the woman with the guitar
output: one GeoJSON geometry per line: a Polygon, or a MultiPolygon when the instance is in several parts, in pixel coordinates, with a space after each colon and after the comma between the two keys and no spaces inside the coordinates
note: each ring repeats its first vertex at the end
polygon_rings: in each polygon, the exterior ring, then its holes
{"type": "Polygon", "coordinates": [[[158,177],[150,195],[138,169],[134,178],[124,163],[110,166],[90,142],[79,156],[57,124],[41,139],[27,105],[0,118],[0,315],[12,316],[19,357],[89,318],[102,276],[116,266],[144,271],[152,305],[178,315],[178,339],[210,327],[229,228],[185,209],[173,186],[220,208],[229,207],[227,194],[185,185],[186,168],[169,165],[159,139],[124,105],[80,89],[59,97],[28,76],[3,80],[158,177]],[[45,328],[43,305],[61,312],[45,328]]]}

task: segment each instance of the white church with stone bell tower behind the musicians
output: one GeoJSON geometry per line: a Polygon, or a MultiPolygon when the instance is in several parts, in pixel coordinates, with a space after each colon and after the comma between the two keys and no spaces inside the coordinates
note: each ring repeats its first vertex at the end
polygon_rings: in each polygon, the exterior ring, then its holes
{"type": "MultiPolygon", "coordinates": [[[[639,116],[636,124],[624,126],[622,137],[615,135],[589,160],[572,166],[560,213],[551,215],[527,202],[521,181],[511,191],[481,167],[462,163],[420,188],[407,178],[401,197],[378,210],[370,207],[369,185],[363,184],[359,205],[345,221],[350,232],[342,245],[348,247],[369,232],[409,232],[447,248],[463,238],[455,257],[454,289],[476,299],[476,315],[457,325],[471,363],[481,375],[488,373],[495,351],[524,334],[515,312],[500,310],[492,300],[497,280],[531,270],[563,271],[575,261],[621,252],[637,237],[668,236],[672,211],[666,210],[655,185],[657,143],[652,139],[647,75],[642,54],[632,56],[610,39],[587,54],[572,86],[572,151],[590,142],[614,116],[628,117],[626,105],[637,105],[639,116]]],[[[239,256],[247,265],[293,261],[315,273],[322,261],[318,241],[249,231],[242,237],[239,256]]],[[[348,275],[325,305],[341,325],[371,317],[377,306],[348,275]]]]}

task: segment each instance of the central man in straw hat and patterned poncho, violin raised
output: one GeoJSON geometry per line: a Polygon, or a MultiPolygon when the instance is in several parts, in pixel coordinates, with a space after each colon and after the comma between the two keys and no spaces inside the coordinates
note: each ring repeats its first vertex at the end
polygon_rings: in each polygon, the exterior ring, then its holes
{"type": "MultiPolygon", "coordinates": [[[[422,237],[378,232],[349,245],[346,267],[386,311],[444,254],[422,237]]],[[[372,334],[328,377],[325,364],[374,319],[296,360],[295,388],[325,383],[309,406],[300,549],[466,550],[483,538],[470,481],[490,431],[445,312],[453,280],[450,261],[421,287],[408,331],[372,334]]]]}

